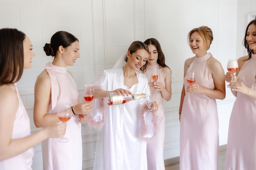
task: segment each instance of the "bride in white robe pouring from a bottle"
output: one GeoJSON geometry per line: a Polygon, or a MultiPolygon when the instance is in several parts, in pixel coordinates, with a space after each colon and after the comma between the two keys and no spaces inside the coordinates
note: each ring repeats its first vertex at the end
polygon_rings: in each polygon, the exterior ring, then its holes
{"type": "MultiPolygon", "coordinates": [[[[121,95],[150,94],[147,78],[138,73],[146,64],[148,47],[140,41],[132,42],[127,52],[128,61],[122,68],[105,70],[94,79],[95,98],[106,97],[109,92],[121,95]]],[[[126,104],[106,106],[105,125],[101,140],[97,141],[94,170],[147,170],[146,141],[141,137],[140,104],[142,99],[126,104]]],[[[154,102],[156,111],[158,106],[154,102]]],[[[152,136],[153,136],[152,132],[152,136]]]]}

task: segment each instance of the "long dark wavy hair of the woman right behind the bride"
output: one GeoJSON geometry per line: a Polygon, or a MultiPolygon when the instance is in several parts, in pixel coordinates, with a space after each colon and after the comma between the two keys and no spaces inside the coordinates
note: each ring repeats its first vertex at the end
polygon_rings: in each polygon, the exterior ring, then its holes
{"type": "MultiPolygon", "coordinates": [[[[162,67],[168,67],[166,64],[165,64],[165,57],[164,57],[164,53],[161,49],[161,45],[160,43],[157,41],[157,39],[155,38],[149,38],[147,39],[146,41],[144,41],[145,44],[149,45],[149,44],[152,44],[153,46],[155,46],[155,48],[157,49],[157,53],[158,53],[158,58],[157,58],[157,64],[159,64],[159,66],[162,66],[162,67]]],[[[169,67],[168,67],[169,68],[169,67]]],[[[146,71],[146,69],[145,69],[146,71]]],[[[143,71],[143,72],[145,72],[143,71]]]]}

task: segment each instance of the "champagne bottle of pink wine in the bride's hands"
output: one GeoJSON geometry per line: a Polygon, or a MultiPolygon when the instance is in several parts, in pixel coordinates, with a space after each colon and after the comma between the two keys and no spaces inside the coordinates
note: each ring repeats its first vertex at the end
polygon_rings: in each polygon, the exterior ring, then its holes
{"type": "Polygon", "coordinates": [[[107,102],[108,102],[108,105],[124,104],[132,100],[143,99],[146,97],[147,97],[147,94],[144,94],[144,93],[139,95],[122,96],[122,95],[118,95],[115,92],[111,92],[107,94],[107,102]]]}

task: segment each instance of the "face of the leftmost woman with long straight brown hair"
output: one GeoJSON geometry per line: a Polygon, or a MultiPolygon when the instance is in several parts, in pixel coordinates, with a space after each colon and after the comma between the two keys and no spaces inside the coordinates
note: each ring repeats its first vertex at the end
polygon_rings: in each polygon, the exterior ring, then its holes
{"type": "Polygon", "coordinates": [[[35,56],[35,53],[32,51],[32,43],[30,39],[26,36],[23,41],[23,50],[24,50],[24,69],[31,68],[31,59],[35,56]]]}

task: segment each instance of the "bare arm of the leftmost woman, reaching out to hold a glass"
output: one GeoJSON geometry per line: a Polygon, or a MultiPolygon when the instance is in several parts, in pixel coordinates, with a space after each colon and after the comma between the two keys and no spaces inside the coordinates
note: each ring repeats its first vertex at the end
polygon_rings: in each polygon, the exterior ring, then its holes
{"type": "Polygon", "coordinates": [[[66,123],[63,123],[48,126],[24,138],[11,139],[19,105],[18,98],[15,87],[6,88],[6,86],[2,86],[0,87],[0,93],[0,161],[19,155],[48,137],[65,135],[66,123]]]}

